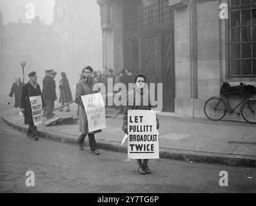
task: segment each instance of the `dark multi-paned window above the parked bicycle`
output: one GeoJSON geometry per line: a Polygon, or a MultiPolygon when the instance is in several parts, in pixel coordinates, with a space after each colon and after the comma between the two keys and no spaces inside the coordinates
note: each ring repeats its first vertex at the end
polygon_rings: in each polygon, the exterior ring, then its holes
{"type": "Polygon", "coordinates": [[[256,0],[229,0],[230,78],[256,77],[256,0]]]}

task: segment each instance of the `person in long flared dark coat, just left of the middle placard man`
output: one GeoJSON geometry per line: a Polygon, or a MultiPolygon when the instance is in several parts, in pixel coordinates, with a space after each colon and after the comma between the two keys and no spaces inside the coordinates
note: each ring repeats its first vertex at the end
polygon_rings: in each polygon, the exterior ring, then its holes
{"type": "MultiPolygon", "coordinates": [[[[67,104],[69,102],[73,101],[72,93],[70,90],[70,84],[68,82],[68,79],[66,78],[66,73],[61,72],[61,80],[59,81],[59,91],[60,91],[60,97],[59,97],[59,103],[67,104]]],[[[66,106],[66,111],[70,111],[70,106],[66,106]]],[[[59,111],[63,111],[63,108],[61,108],[59,111]]]]}

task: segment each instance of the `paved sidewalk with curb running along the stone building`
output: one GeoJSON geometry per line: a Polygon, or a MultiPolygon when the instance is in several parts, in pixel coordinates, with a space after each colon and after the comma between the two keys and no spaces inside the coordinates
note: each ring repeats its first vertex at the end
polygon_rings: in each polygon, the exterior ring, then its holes
{"type": "MultiPolygon", "coordinates": [[[[57,106],[55,106],[57,108],[57,106]]],[[[55,111],[55,117],[77,117],[77,106],[70,106],[71,112],[55,111]]],[[[127,144],[121,146],[124,133],[121,130],[123,115],[118,110],[106,109],[106,129],[95,135],[99,149],[127,153],[127,144]]],[[[3,111],[2,118],[9,126],[26,132],[24,117],[17,109],[3,111]]],[[[210,164],[256,167],[256,126],[241,121],[185,117],[172,113],[158,115],[159,151],[161,158],[205,162],[210,164]]],[[[43,117],[43,122],[46,118],[43,117]]],[[[77,144],[79,124],[37,127],[39,136],[65,143],[77,144]]],[[[85,141],[88,146],[88,141],[85,141]]],[[[78,149],[78,148],[77,148],[78,149]]]]}

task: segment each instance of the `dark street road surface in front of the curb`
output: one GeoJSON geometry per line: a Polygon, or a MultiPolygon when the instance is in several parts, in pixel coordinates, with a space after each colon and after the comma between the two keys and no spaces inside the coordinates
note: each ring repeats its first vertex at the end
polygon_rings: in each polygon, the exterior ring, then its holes
{"type": "MultiPolygon", "coordinates": [[[[0,96],[1,110],[11,108],[0,96]]],[[[170,159],[150,160],[152,174],[137,172],[127,154],[101,151],[40,138],[35,141],[0,120],[0,192],[256,192],[256,169],[170,159]],[[35,186],[26,185],[26,172],[35,186]],[[221,187],[221,171],[228,187],[221,187]]]]}

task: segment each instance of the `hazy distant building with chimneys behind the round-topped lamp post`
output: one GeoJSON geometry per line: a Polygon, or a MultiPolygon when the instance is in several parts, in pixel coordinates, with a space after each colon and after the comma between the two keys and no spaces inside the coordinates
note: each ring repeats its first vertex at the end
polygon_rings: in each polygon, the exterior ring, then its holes
{"type": "MultiPolygon", "coordinates": [[[[48,48],[51,42],[51,26],[42,24],[39,17],[35,17],[32,23],[8,23],[3,25],[2,12],[0,12],[0,68],[1,82],[14,80],[15,77],[22,75],[20,66],[21,61],[26,61],[25,80],[28,80],[28,71],[40,71],[46,68],[48,48]],[[3,74],[2,73],[2,74],[3,74]],[[6,78],[8,75],[9,79],[6,78]]],[[[43,72],[42,72],[43,74],[43,72]]],[[[5,85],[3,83],[3,85],[5,85]]]]}

